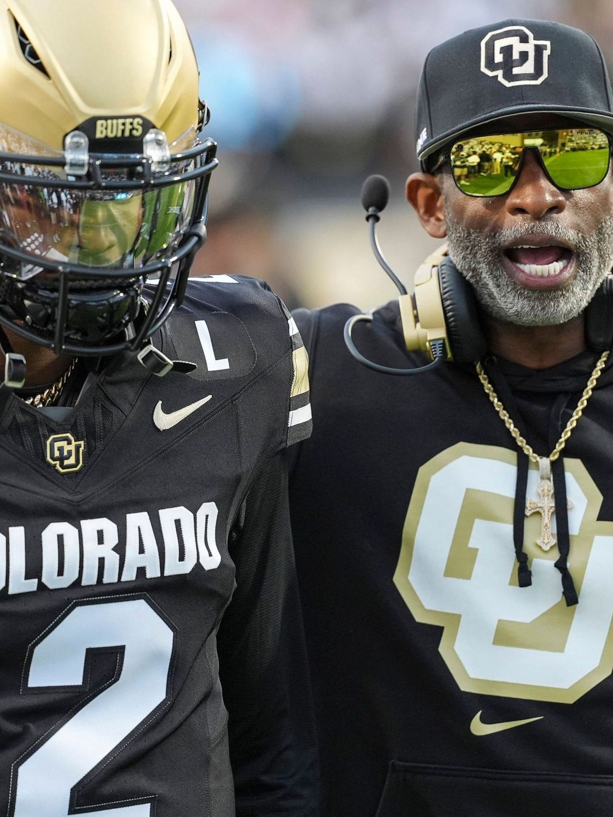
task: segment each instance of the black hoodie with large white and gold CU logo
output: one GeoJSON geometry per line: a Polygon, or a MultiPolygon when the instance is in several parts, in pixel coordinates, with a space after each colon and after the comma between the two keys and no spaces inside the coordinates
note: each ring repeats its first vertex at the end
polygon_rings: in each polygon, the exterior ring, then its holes
{"type": "MultiPolygon", "coordinates": [[[[539,469],[475,368],[371,371],[343,342],[356,311],[294,314],[315,431],[294,449],[290,509],[325,817],[610,817],[611,363],[561,458],[579,596],[567,606],[558,547],[539,545],[541,512],[526,516],[539,469]],[[517,514],[529,587],[518,582],[517,514]]],[[[375,362],[427,363],[403,349],[397,305],[354,336],[375,362]]],[[[544,371],[485,360],[536,453],[553,449],[597,357],[544,371]]],[[[556,538],[563,517],[553,516],[556,538]]]]}

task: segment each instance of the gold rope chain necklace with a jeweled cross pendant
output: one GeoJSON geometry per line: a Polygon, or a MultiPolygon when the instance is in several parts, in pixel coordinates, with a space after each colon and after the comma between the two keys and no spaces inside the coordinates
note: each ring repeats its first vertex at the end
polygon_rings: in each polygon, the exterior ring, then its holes
{"type": "MultiPolygon", "coordinates": [[[[609,350],[602,352],[602,355],[598,359],[596,366],[592,374],[589,376],[589,380],[587,386],[584,388],[584,393],[579,398],[579,403],[577,404],[577,408],[572,413],[570,420],[566,423],[566,428],[562,431],[562,435],[560,435],[560,439],[557,440],[557,443],[553,447],[552,453],[549,454],[548,457],[539,457],[537,453],[534,452],[530,445],[526,442],[526,440],[521,436],[519,429],[513,423],[511,417],[508,416],[508,411],[504,408],[503,404],[499,400],[498,395],[492,388],[490,384],[490,380],[485,374],[483,366],[481,363],[477,363],[477,376],[481,381],[481,386],[483,386],[485,390],[485,394],[490,398],[491,404],[494,406],[496,411],[499,414],[500,419],[503,421],[504,425],[508,428],[508,431],[511,433],[513,440],[517,443],[523,453],[526,454],[526,457],[530,459],[531,462],[536,462],[539,465],[539,487],[537,489],[539,493],[539,499],[529,499],[526,502],[526,516],[530,516],[530,514],[535,513],[538,511],[541,515],[541,531],[540,531],[540,538],[536,540],[536,543],[539,547],[542,547],[544,551],[548,551],[551,547],[556,544],[555,538],[552,536],[551,532],[551,520],[552,516],[556,511],[556,504],[553,498],[553,481],[551,477],[551,464],[555,462],[557,458],[562,453],[562,449],[566,445],[566,441],[569,439],[570,435],[572,434],[577,422],[579,421],[579,417],[584,413],[584,408],[588,404],[589,398],[592,396],[592,391],[594,386],[596,386],[596,382],[598,377],[600,377],[602,369],[606,364],[606,359],[609,356],[609,350]]],[[[568,509],[573,507],[572,502],[568,502],[568,509]]]]}

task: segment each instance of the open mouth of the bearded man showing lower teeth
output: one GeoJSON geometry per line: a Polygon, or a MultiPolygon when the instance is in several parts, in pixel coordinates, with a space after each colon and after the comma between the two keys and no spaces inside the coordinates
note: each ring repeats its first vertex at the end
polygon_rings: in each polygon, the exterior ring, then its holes
{"type": "Polygon", "coordinates": [[[575,252],[573,248],[543,236],[525,240],[503,248],[503,259],[519,283],[533,288],[561,286],[573,275],[575,252]],[[538,241],[538,243],[537,243],[538,241]]]}

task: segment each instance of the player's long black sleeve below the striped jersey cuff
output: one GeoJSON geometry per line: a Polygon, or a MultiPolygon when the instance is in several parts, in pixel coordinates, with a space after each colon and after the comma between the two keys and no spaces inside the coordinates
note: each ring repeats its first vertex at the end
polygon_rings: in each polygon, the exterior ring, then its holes
{"type": "Polygon", "coordinates": [[[218,633],[237,817],[315,817],[318,766],[289,526],[285,453],[255,480],[230,542],[218,633]]]}

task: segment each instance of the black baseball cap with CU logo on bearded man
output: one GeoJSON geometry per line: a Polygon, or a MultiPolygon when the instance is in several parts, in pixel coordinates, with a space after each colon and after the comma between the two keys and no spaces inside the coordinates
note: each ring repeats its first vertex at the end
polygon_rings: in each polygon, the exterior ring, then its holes
{"type": "Polygon", "coordinates": [[[417,155],[424,160],[481,123],[561,114],[613,134],[611,83],[589,34],[548,20],[503,20],[430,51],[419,81],[417,155]]]}

